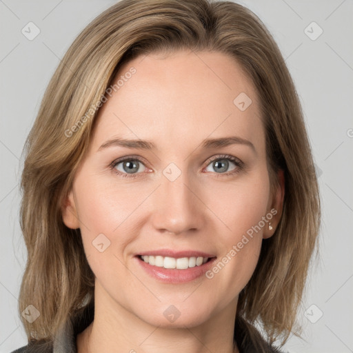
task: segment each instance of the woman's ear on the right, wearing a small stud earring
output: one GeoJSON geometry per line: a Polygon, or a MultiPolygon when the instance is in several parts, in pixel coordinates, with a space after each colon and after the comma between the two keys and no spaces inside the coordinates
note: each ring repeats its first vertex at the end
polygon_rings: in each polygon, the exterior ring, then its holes
{"type": "Polygon", "coordinates": [[[268,239],[274,234],[277,226],[279,225],[279,221],[283,212],[283,200],[285,192],[285,179],[283,170],[279,170],[277,173],[277,178],[279,185],[276,186],[276,190],[273,192],[271,200],[272,202],[270,202],[270,208],[268,209],[268,214],[272,214],[273,216],[272,219],[269,219],[268,223],[265,224],[265,228],[263,230],[263,239],[268,239]],[[272,226],[272,230],[269,228],[269,225],[272,226]]]}

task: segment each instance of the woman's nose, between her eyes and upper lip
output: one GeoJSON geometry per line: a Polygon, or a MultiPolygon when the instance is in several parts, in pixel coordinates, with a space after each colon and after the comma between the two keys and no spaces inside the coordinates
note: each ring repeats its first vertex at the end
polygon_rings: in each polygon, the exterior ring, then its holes
{"type": "Polygon", "coordinates": [[[187,172],[174,181],[161,174],[161,185],[152,199],[152,225],[161,233],[188,234],[205,226],[201,188],[188,178],[187,172]]]}

